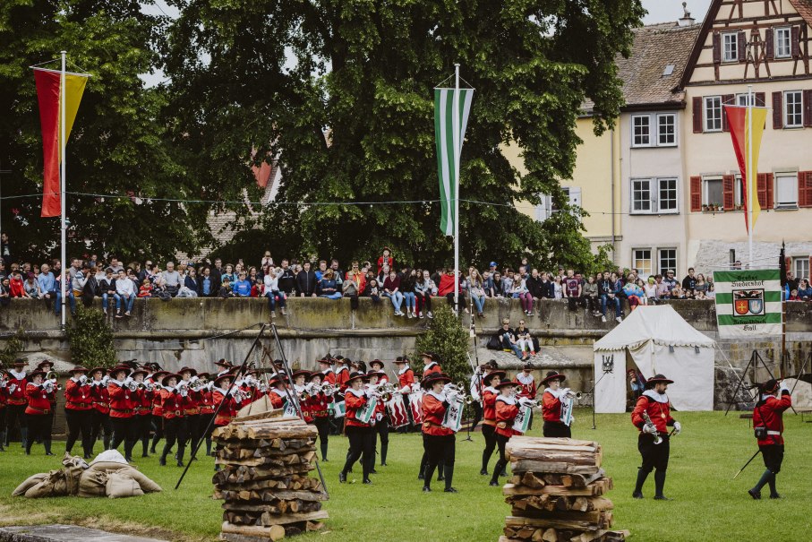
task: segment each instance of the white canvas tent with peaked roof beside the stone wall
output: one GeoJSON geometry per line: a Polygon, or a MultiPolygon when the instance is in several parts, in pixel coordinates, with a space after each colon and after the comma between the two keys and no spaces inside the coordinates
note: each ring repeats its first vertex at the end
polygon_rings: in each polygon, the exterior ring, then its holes
{"type": "Polygon", "coordinates": [[[594,343],[595,411],[626,411],[627,366],[673,380],[667,393],[676,409],[713,410],[715,344],[671,305],[638,307],[594,343]]]}

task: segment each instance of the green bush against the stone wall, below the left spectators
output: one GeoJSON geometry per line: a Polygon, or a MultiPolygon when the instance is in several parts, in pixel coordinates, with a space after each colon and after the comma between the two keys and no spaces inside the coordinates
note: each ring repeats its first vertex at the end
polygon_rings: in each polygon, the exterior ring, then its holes
{"type": "Polygon", "coordinates": [[[113,329],[101,310],[78,305],[76,315],[67,329],[67,336],[71,343],[71,360],[74,364],[89,369],[115,365],[113,329]]]}

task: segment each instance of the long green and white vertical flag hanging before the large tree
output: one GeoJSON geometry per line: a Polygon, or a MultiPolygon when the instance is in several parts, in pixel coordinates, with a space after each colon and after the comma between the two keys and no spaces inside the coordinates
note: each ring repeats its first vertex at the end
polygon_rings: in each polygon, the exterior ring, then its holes
{"type": "Polygon", "coordinates": [[[434,89],[434,137],[437,145],[437,175],[440,177],[440,229],[454,235],[457,220],[456,200],[459,189],[459,157],[466,135],[468,114],[474,89],[459,89],[457,114],[454,113],[454,89],[434,89]],[[454,126],[459,126],[455,133],[454,126]]]}

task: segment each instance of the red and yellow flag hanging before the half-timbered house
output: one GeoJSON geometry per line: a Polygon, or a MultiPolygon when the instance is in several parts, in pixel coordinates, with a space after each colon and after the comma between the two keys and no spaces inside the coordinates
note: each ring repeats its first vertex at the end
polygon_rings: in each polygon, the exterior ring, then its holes
{"type": "Polygon", "coordinates": [[[753,228],[756,227],[756,219],[761,211],[761,205],[758,204],[756,180],[758,178],[758,150],[761,148],[761,136],[764,133],[767,109],[725,106],[724,111],[728,116],[728,125],[731,127],[733,150],[736,151],[736,159],[739,160],[741,183],[744,187],[744,197],[742,198],[744,203],[744,224],[749,232],[748,210],[752,206],[753,228]],[[752,116],[752,119],[750,116],[752,116]],[[753,128],[753,133],[750,133],[750,127],[753,128]],[[748,163],[751,139],[753,142],[752,154],[748,163]]]}

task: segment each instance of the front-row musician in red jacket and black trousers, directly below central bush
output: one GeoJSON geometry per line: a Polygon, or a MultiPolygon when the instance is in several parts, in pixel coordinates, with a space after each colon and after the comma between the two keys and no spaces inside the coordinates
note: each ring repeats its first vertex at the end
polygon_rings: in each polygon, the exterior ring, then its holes
{"type": "Polygon", "coordinates": [[[451,382],[447,374],[432,372],[424,377],[420,385],[425,390],[423,396],[423,455],[426,465],[423,471],[423,491],[432,491],[432,476],[438,465],[443,466],[446,493],[457,493],[451,484],[454,481],[454,460],[456,439],[449,427],[442,426],[451,401],[457,400],[457,391],[446,391],[445,385],[451,382]]]}

